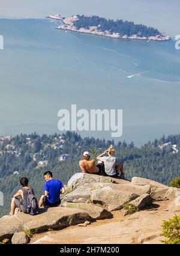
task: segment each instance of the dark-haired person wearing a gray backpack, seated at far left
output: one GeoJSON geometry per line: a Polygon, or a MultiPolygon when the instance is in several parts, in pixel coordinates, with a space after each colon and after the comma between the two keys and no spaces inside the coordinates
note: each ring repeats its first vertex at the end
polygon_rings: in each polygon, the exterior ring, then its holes
{"type": "Polygon", "coordinates": [[[28,186],[28,182],[28,178],[26,177],[20,179],[22,189],[18,190],[11,200],[11,216],[14,215],[16,208],[18,209],[18,212],[29,213],[31,215],[38,213],[37,199],[34,190],[28,186]]]}

